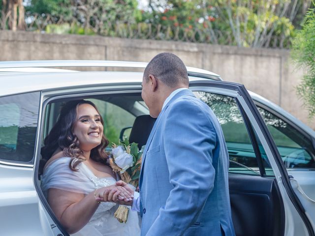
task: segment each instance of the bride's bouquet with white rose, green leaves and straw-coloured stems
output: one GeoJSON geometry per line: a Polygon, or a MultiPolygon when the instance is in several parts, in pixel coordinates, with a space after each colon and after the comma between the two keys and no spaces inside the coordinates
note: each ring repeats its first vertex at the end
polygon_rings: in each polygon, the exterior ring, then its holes
{"type": "MultiPolygon", "coordinates": [[[[119,146],[112,144],[112,155],[109,158],[113,171],[118,173],[124,182],[135,188],[139,185],[143,149],[144,146],[139,151],[136,143],[129,144],[129,141],[125,139],[119,146]]],[[[119,206],[114,216],[119,222],[126,223],[128,212],[128,207],[119,206]]]]}

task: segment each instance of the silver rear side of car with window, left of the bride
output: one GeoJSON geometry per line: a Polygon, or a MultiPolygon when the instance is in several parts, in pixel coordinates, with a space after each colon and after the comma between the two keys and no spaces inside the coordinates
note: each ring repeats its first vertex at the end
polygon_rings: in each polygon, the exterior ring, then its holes
{"type": "Polygon", "coordinates": [[[0,97],[1,235],[51,235],[33,184],[40,92],[0,97]]]}

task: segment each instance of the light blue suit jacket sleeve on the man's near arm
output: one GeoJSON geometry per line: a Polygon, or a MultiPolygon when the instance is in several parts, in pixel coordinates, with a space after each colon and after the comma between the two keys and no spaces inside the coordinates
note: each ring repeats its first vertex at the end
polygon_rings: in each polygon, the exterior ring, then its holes
{"type": "Polygon", "coordinates": [[[147,236],[183,235],[214,185],[217,133],[212,121],[196,101],[181,100],[168,109],[163,144],[173,189],[147,236]]]}

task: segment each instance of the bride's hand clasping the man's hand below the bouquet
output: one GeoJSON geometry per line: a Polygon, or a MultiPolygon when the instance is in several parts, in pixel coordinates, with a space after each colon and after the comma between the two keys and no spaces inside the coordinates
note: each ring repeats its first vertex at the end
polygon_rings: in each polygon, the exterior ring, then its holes
{"type": "Polygon", "coordinates": [[[116,193],[116,196],[121,201],[129,202],[133,199],[133,190],[129,186],[126,188],[124,186],[120,186],[119,184],[113,184],[97,189],[95,193],[96,200],[100,202],[109,202],[106,195],[108,192],[116,193]],[[106,195],[106,199],[104,198],[104,195],[106,195]]]}

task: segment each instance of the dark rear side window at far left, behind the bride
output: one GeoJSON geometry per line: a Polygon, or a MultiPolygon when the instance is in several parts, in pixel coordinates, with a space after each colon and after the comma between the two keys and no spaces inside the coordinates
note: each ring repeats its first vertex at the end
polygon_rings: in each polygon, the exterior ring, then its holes
{"type": "Polygon", "coordinates": [[[0,159],[31,163],[40,92],[0,97],[0,159]]]}

